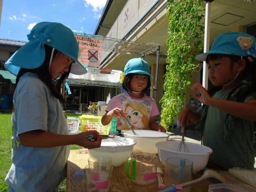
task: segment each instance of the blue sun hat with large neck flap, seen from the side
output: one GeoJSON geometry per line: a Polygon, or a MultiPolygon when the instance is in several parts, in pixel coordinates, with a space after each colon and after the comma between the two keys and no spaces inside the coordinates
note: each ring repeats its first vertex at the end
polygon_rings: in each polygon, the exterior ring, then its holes
{"type": "Polygon", "coordinates": [[[73,59],[71,73],[87,73],[85,66],[78,62],[78,43],[68,27],[55,22],[40,22],[27,36],[29,42],[19,48],[5,63],[5,69],[10,73],[17,76],[20,68],[36,69],[41,66],[45,60],[43,45],[49,45],[73,59]]]}

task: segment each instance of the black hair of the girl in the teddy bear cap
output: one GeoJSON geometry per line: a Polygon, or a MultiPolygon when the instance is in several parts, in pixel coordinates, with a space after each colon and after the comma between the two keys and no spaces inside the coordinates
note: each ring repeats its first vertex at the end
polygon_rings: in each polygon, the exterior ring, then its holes
{"type": "MultiPolygon", "coordinates": [[[[233,62],[237,62],[238,60],[241,59],[241,56],[238,56],[238,55],[209,54],[206,57],[206,63],[208,63],[209,61],[214,60],[214,59],[221,59],[223,57],[228,57],[233,62]]],[[[254,62],[250,62],[248,60],[248,57],[244,57],[244,56],[242,57],[242,59],[244,59],[246,62],[245,69],[243,71],[241,71],[242,79],[252,82],[252,85],[250,85],[249,88],[247,89],[247,91],[244,92],[244,97],[245,97],[248,94],[250,94],[251,92],[256,91],[256,61],[254,60],[254,62]]],[[[222,89],[222,86],[211,85],[208,89],[208,93],[209,93],[209,95],[213,95],[215,92],[217,92],[218,90],[221,90],[221,89],[222,89]]],[[[232,94],[232,92],[235,90],[236,90],[236,88],[234,88],[234,90],[232,90],[230,92],[230,94],[232,94]]]]}

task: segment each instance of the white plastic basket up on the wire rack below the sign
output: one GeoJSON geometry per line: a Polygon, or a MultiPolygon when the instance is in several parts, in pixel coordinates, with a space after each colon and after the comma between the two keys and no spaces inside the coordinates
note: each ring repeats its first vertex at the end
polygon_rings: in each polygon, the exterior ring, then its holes
{"type": "Polygon", "coordinates": [[[87,70],[88,73],[85,74],[84,78],[92,81],[106,81],[111,83],[118,83],[122,74],[122,71],[113,69],[101,69],[96,67],[88,67],[87,70]]]}

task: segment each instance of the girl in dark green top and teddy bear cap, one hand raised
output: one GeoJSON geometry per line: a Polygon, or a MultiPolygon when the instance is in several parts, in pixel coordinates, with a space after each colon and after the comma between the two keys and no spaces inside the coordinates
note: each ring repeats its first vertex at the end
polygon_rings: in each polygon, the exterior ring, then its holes
{"type": "Polygon", "coordinates": [[[254,131],[256,131],[256,50],[255,38],[241,32],[217,36],[211,50],[197,55],[206,61],[209,80],[207,91],[195,83],[191,90],[201,103],[196,112],[183,109],[181,125],[196,123],[203,144],[213,149],[209,164],[221,169],[254,169],[254,131]]]}

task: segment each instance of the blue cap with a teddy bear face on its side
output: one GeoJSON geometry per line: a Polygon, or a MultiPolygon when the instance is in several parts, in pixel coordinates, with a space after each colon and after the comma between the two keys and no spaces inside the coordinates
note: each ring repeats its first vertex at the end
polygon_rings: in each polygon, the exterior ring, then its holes
{"type": "Polygon", "coordinates": [[[205,61],[209,54],[251,56],[255,60],[255,37],[242,32],[222,33],[214,40],[211,50],[197,55],[196,59],[205,61]]]}

